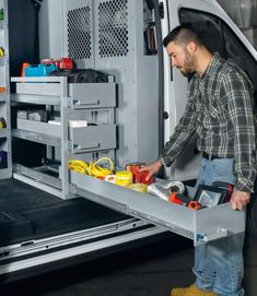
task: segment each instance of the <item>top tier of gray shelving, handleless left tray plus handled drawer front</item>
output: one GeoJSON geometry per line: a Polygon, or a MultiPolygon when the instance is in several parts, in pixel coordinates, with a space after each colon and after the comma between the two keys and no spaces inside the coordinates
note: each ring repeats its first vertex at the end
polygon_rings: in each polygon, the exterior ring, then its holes
{"type": "Polygon", "coordinates": [[[70,97],[72,109],[95,109],[116,107],[117,84],[108,83],[69,83],[63,78],[13,78],[16,94],[12,102],[43,105],[59,105],[60,97],[70,97]],[[66,95],[65,95],[66,94],[66,95]]]}

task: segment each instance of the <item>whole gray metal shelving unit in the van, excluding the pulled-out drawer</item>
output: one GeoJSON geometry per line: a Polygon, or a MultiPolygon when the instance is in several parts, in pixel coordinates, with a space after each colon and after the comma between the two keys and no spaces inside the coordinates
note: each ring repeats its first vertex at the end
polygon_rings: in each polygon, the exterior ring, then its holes
{"type": "Polygon", "coordinates": [[[55,168],[46,165],[31,168],[17,163],[13,165],[14,177],[68,199],[69,159],[94,161],[101,153],[115,157],[116,83],[69,84],[67,78],[54,76],[12,78],[11,82],[16,87],[12,95],[15,106],[42,105],[49,117],[59,113],[59,125],[16,119],[12,137],[46,145],[47,158],[59,165],[55,168]],[[86,120],[89,126],[70,127],[70,120],[75,119],[86,120]]]}

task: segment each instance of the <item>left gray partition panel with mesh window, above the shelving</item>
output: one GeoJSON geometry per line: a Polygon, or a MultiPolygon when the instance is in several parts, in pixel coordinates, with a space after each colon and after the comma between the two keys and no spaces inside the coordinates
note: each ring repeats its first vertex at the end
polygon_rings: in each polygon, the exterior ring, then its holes
{"type": "Polygon", "coordinates": [[[94,68],[92,0],[65,0],[65,51],[77,68],[94,68]]]}

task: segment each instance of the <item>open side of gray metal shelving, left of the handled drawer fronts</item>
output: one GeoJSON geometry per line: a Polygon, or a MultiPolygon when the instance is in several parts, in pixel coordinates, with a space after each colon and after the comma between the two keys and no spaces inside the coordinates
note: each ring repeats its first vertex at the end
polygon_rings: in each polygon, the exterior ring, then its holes
{"type": "Polygon", "coordinates": [[[13,176],[34,187],[43,189],[62,199],[69,198],[68,174],[68,94],[67,78],[12,78],[16,84],[16,93],[12,103],[59,107],[61,125],[52,127],[47,122],[17,119],[17,128],[12,130],[12,137],[45,144],[60,150],[60,167],[58,177],[47,174],[44,166],[26,167],[13,164],[13,176]],[[44,95],[43,95],[44,94],[44,95]],[[46,127],[48,129],[46,129],[46,127]],[[59,128],[52,133],[52,128],[59,128]]]}

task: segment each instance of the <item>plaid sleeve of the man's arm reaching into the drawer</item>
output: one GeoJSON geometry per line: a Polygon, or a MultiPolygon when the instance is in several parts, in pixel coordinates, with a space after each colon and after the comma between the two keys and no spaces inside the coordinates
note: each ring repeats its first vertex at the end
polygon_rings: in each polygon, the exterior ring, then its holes
{"type": "Polygon", "coordinates": [[[194,97],[188,98],[185,113],[175,128],[170,141],[161,153],[161,162],[171,166],[175,158],[183,152],[196,130],[197,110],[194,97]]]}

